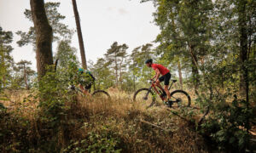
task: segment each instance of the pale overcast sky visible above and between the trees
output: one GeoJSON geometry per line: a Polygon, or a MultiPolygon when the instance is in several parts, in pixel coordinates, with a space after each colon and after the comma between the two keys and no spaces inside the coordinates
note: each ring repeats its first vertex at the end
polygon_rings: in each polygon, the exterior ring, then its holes
{"type": "MultiPolygon", "coordinates": [[[[44,0],[47,2],[61,2],[59,12],[66,16],[62,22],[72,29],[76,29],[73,15],[72,0],[44,0]]],[[[103,57],[115,41],[126,43],[129,46],[128,53],[145,43],[154,41],[160,33],[154,25],[155,11],[151,2],[140,3],[140,0],[77,0],[79,16],[84,38],[84,48],[87,60],[96,62],[103,57]]],[[[26,8],[30,8],[29,0],[0,0],[0,26],[4,31],[14,32],[14,51],[12,55],[15,62],[20,59],[32,61],[32,68],[36,69],[35,53],[32,45],[18,47],[16,42],[20,39],[16,31],[28,31],[32,22],[23,14],[26,8]]],[[[74,34],[72,46],[78,48],[77,33],[74,34]]],[[[53,45],[55,54],[57,44],[53,45]]]]}

